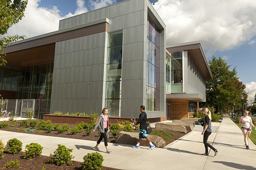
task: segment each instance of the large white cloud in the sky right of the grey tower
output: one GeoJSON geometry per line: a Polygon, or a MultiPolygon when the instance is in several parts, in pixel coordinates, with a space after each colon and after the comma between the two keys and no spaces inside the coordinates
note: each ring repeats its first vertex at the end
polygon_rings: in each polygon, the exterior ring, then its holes
{"type": "Polygon", "coordinates": [[[208,54],[232,49],[256,34],[254,0],[158,0],[167,45],[200,40],[208,54]]]}

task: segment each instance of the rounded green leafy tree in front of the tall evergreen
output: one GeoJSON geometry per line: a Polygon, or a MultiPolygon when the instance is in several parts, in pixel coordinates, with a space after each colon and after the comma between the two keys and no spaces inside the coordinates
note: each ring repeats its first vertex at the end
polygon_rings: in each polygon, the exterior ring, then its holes
{"type": "Polygon", "coordinates": [[[236,106],[242,106],[240,95],[244,95],[243,104],[246,106],[247,93],[244,90],[245,85],[239,80],[226,80],[222,85],[216,87],[216,98],[219,110],[225,111],[231,109],[235,103],[236,106]]]}

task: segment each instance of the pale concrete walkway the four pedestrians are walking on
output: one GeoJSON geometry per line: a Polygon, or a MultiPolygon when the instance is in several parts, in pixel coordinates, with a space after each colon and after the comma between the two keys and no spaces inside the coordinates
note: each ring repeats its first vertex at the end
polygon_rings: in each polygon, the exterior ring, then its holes
{"type": "MultiPolygon", "coordinates": [[[[209,156],[204,153],[203,128],[200,125],[194,127],[194,131],[176,140],[164,148],[142,146],[133,149],[131,145],[108,143],[113,151],[105,153],[104,143],[100,143],[99,149],[104,161],[103,166],[120,170],[256,170],[256,145],[250,140],[250,149],[245,149],[244,137],[236,124],[230,118],[225,117],[222,123],[212,123],[213,132],[208,142],[219,150],[214,157],[210,150],[209,156]]],[[[74,161],[83,161],[87,153],[95,152],[95,141],[74,140],[60,137],[47,137],[41,135],[22,134],[8,131],[0,131],[0,139],[6,143],[9,139],[17,138],[25,145],[39,143],[43,146],[42,155],[49,156],[57,149],[58,144],[73,149],[74,161]]]]}

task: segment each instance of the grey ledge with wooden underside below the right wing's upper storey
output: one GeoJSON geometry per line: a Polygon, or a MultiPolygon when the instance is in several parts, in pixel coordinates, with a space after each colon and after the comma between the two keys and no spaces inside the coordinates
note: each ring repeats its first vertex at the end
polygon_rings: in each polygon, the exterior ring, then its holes
{"type": "Polygon", "coordinates": [[[167,100],[193,100],[195,102],[203,102],[204,97],[200,94],[172,93],[166,94],[167,100]]]}

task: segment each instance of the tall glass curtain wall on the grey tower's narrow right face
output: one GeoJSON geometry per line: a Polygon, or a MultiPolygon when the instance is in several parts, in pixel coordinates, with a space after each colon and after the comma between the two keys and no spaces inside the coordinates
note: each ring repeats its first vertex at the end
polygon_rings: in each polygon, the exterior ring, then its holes
{"type": "Polygon", "coordinates": [[[160,29],[148,16],[146,110],[160,110],[160,29]]]}

